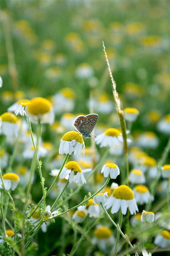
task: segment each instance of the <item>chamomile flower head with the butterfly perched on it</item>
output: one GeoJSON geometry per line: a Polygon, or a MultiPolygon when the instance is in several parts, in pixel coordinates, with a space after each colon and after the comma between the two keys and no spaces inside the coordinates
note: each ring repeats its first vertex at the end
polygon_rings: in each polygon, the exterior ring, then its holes
{"type": "Polygon", "coordinates": [[[85,154],[85,144],[80,133],[69,131],[62,136],[59,154],[71,155],[74,152],[75,155],[78,155],[81,154],[81,149],[83,149],[83,154],[85,154]]]}

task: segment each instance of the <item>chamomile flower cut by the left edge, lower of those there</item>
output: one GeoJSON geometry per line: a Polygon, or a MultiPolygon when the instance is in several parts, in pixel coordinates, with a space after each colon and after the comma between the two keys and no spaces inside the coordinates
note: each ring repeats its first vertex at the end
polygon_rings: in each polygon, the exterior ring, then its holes
{"type": "MultiPolygon", "coordinates": [[[[15,173],[6,173],[3,175],[4,187],[6,190],[14,190],[19,183],[19,176],[15,173]]],[[[2,180],[0,179],[0,188],[2,187],[2,180]]]]}

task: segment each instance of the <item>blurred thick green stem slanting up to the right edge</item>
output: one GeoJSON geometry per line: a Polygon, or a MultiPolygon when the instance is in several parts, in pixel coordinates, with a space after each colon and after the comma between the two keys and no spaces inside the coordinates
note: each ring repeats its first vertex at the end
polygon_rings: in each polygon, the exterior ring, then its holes
{"type": "Polygon", "coordinates": [[[166,145],[166,147],[164,149],[164,152],[162,153],[161,159],[157,163],[157,170],[158,170],[157,177],[155,179],[155,183],[154,183],[152,191],[151,191],[150,201],[148,202],[148,205],[146,207],[146,211],[149,211],[151,206],[152,206],[152,198],[155,195],[155,191],[156,191],[157,184],[158,184],[158,181],[159,181],[159,178],[160,178],[160,174],[161,174],[161,168],[162,168],[162,166],[164,165],[164,163],[166,161],[166,158],[168,156],[169,150],[170,150],[170,138],[169,138],[169,140],[167,142],[167,145],[166,145]]]}

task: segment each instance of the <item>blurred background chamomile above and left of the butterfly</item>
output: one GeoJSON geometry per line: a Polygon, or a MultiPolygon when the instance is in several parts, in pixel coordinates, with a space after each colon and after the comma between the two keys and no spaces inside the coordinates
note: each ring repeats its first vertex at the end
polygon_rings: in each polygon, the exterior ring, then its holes
{"type": "Polygon", "coordinates": [[[75,105],[75,93],[71,88],[63,88],[52,96],[55,113],[72,112],[75,105]]]}

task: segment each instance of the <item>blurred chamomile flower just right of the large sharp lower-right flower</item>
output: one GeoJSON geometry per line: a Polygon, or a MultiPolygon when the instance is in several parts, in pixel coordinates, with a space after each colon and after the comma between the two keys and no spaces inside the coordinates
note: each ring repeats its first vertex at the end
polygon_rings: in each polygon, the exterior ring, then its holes
{"type": "Polygon", "coordinates": [[[133,193],[134,193],[136,202],[139,205],[148,203],[151,198],[151,194],[145,185],[137,185],[136,187],[134,187],[133,193]]]}

